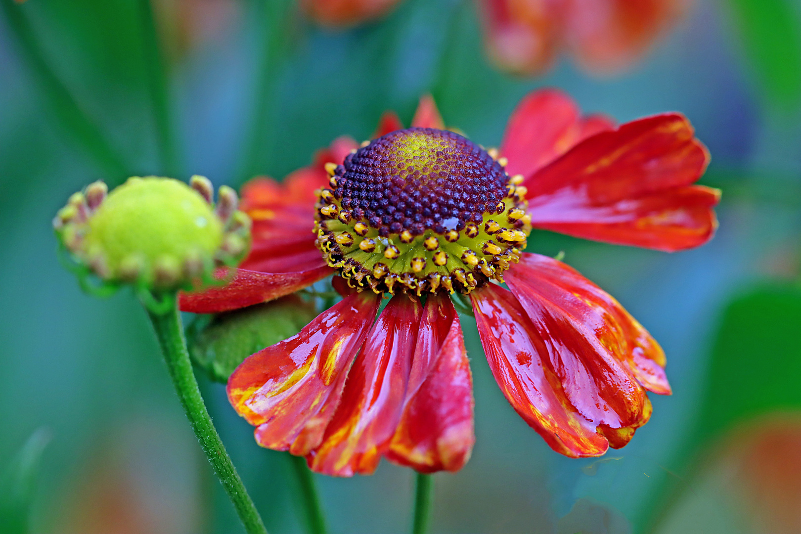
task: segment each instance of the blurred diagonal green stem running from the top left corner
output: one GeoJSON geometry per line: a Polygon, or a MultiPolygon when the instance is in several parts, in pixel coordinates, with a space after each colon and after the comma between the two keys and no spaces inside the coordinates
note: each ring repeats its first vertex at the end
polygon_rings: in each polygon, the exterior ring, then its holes
{"type": "Polygon", "coordinates": [[[11,34],[16,39],[22,58],[36,78],[53,114],[62,126],[80,143],[87,154],[103,169],[109,185],[122,183],[128,175],[123,158],[103,135],[99,126],[84,112],[70,90],[50,69],[42,49],[38,46],[33,28],[30,27],[23,9],[14,0],[0,0],[0,7],[6,16],[11,34]]]}

